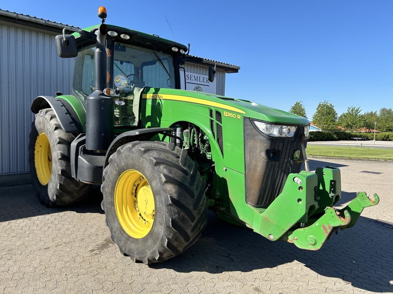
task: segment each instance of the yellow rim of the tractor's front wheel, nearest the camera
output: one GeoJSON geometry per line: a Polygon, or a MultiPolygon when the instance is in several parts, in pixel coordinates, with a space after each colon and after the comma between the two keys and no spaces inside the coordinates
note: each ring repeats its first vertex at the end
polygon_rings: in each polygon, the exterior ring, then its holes
{"type": "Polygon", "coordinates": [[[115,210],[123,230],[132,238],[149,234],[154,222],[154,197],[145,176],[129,169],[116,182],[115,210]]]}

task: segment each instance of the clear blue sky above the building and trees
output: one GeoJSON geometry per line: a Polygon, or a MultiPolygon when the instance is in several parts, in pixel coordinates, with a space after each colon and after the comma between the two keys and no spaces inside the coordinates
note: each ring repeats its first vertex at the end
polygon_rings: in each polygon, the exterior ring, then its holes
{"type": "Polygon", "coordinates": [[[79,27],[107,23],[191,43],[191,54],[236,64],[226,95],[311,119],[323,100],[338,114],[393,107],[393,1],[18,1],[1,9],[79,27]],[[170,3],[175,5],[171,6],[170,3]],[[122,5],[123,4],[123,5],[122,5]]]}

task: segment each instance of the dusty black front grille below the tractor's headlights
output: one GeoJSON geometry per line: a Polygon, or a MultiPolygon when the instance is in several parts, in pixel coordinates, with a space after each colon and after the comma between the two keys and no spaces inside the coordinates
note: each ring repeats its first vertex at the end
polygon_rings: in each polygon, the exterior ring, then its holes
{"type": "MultiPolygon", "coordinates": [[[[267,207],[283,190],[288,174],[299,172],[303,162],[298,127],[294,139],[267,138],[260,134],[249,118],[244,118],[244,156],[246,167],[246,201],[254,207],[267,207]],[[301,153],[301,152],[300,152],[301,153]]],[[[307,144],[305,140],[304,144],[307,144]]]]}

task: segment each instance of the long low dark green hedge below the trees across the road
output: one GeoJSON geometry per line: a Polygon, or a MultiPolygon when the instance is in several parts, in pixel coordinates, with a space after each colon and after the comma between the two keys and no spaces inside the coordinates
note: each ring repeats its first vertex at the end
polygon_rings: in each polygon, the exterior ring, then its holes
{"type": "MultiPolygon", "coordinates": [[[[374,133],[358,133],[346,131],[314,131],[309,134],[312,141],[346,141],[351,138],[369,138],[374,140],[374,133]]],[[[376,141],[393,141],[393,132],[380,132],[375,134],[376,141]]]]}

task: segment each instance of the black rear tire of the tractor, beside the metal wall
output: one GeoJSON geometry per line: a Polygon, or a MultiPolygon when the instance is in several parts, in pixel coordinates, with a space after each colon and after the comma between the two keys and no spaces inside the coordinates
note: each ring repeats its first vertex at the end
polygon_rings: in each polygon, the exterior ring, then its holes
{"type": "MultiPolygon", "coordinates": [[[[29,140],[30,176],[35,195],[40,203],[49,206],[61,206],[75,203],[88,196],[91,185],[81,183],[71,176],[70,149],[75,136],[62,130],[52,109],[41,109],[31,124],[29,140]],[[36,143],[40,134],[45,134],[50,145],[51,170],[49,181],[43,181],[37,175],[36,143]]],[[[48,153],[48,154],[49,154],[48,153]]],[[[50,160],[48,159],[48,162],[50,160]]]]}

